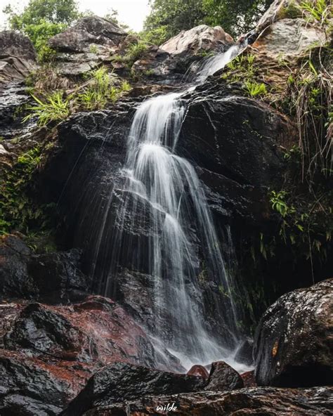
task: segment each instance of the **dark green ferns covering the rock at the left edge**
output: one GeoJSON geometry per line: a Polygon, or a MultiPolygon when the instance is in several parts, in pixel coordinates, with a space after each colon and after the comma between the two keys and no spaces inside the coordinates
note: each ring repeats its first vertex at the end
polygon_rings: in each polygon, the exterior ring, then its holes
{"type": "Polygon", "coordinates": [[[40,165],[41,148],[35,147],[19,155],[13,167],[4,169],[0,182],[0,235],[49,227],[53,205],[36,204],[29,192],[40,165]]]}

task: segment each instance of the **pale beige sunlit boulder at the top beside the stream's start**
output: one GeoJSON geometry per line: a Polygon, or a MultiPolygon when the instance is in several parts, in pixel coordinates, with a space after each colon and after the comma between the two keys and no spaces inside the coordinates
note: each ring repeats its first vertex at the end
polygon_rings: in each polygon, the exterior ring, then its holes
{"type": "Polygon", "coordinates": [[[160,46],[171,56],[189,56],[207,51],[223,51],[233,44],[233,38],[220,26],[200,25],[183,30],[160,46]]]}

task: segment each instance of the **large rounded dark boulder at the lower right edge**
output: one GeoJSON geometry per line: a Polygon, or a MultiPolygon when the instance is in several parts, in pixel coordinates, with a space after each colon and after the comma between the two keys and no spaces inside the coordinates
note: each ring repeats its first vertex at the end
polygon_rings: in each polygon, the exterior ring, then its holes
{"type": "Polygon", "coordinates": [[[256,382],[263,386],[333,383],[333,280],[280,297],[256,330],[256,382]]]}

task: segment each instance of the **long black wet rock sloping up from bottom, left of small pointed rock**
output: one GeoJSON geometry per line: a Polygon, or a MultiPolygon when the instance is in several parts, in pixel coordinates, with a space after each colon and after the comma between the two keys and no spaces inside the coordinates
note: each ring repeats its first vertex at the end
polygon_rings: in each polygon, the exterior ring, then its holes
{"type": "Polygon", "coordinates": [[[62,416],[83,415],[90,409],[143,396],[179,394],[199,391],[207,382],[202,377],[178,375],[144,367],[116,363],[89,379],[79,396],[70,403],[62,416]]]}

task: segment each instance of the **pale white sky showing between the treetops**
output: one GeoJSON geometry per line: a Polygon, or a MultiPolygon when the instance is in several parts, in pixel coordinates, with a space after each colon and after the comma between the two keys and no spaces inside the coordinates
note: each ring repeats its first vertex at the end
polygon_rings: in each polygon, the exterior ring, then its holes
{"type": "MultiPolygon", "coordinates": [[[[0,27],[4,28],[6,16],[2,13],[4,6],[11,4],[13,8],[22,9],[28,0],[0,0],[0,27]]],[[[118,11],[119,20],[137,32],[143,28],[143,21],[149,13],[148,0],[78,0],[80,11],[91,10],[103,16],[112,8],[118,11]]]]}

